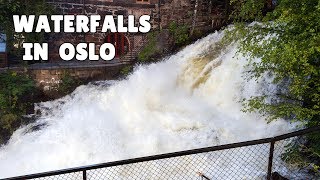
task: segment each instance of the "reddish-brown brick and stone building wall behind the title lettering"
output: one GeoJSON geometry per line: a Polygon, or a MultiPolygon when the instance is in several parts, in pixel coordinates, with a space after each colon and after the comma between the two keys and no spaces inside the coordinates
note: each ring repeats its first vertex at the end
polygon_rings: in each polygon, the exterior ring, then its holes
{"type": "MultiPolygon", "coordinates": [[[[225,24],[226,0],[150,0],[149,3],[139,3],[136,0],[47,0],[56,7],[59,14],[71,15],[134,15],[136,20],[141,15],[150,15],[152,29],[166,29],[175,21],[186,25],[192,32],[203,34],[219,29],[225,24]]],[[[103,20],[102,20],[103,21],[103,20]]],[[[138,23],[138,22],[136,22],[138,23]]],[[[48,36],[50,52],[49,61],[61,61],[59,47],[62,43],[92,42],[96,44],[96,52],[104,43],[107,33],[101,32],[101,26],[96,33],[52,33],[48,36]]],[[[132,61],[144,45],[145,34],[125,34],[130,40],[130,55],[121,57],[121,61],[132,61]]]]}

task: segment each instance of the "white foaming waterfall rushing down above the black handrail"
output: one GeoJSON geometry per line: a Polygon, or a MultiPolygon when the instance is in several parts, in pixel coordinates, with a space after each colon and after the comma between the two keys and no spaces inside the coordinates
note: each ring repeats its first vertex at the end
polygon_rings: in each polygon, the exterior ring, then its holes
{"type": "Polygon", "coordinates": [[[0,149],[0,177],[291,131],[284,120],[267,124],[261,115],[241,111],[243,98],[276,87],[268,85],[268,76],[247,82],[247,61],[235,57],[237,47],[217,47],[222,34],[211,34],[162,62],[136,67],[126,80],[80,86],[70,96],[40,104],[37,122],[17,130],[0,149]]]}

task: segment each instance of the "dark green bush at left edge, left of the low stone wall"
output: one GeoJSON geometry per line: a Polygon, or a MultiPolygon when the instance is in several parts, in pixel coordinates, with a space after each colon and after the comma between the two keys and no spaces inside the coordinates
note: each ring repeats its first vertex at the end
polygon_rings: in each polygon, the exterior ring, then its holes
{"type": "Polygon", "coordinates": [[[26,75],[13,72],[0,74],[0,144],[6,142],[27,114],[35,84],[26,75]]]}

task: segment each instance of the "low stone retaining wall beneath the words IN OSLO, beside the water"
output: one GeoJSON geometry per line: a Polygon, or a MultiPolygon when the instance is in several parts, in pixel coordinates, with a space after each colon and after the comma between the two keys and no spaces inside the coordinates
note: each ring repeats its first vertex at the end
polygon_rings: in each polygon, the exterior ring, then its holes
{"type": "MultiPolygon", "coordinates": [[[[68,74],[71,77],[81,80],[81,82],[91,82],[100,80],[112,80],[120,75],[123,67],[128,63],[118,64],[86,64],[86,65],[50,65],[46,67],[25,67],[10,68],[11,71],[17,73],[29,74],[36,82],[36,86],[44,92],[44,94],[58,97],[56,94],[61,78],[68,74]]],[[[7,71],[7,68],[0,68],[0,73],[7,71]]]]}

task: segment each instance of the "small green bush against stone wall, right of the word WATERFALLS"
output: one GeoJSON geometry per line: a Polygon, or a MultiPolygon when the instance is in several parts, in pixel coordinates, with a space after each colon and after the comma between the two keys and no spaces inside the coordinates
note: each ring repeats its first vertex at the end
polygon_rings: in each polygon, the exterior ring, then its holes
{"type": "Polygon", "coordinates": [[[188,26],[178,25],[173,21],[169,24],[169,32],[176,46],[181,47],[189,43],[188,26]]]}

